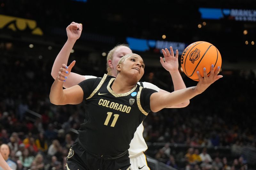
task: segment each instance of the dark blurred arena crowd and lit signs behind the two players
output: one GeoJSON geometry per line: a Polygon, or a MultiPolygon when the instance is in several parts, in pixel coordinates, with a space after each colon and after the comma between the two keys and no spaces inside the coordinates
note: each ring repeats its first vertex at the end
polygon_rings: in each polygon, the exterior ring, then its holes
{"type": "MultiPolygon", "coordinates": [[[[108,51],[127,43],[146,64],[141,81],[169,92],[172,79],[160,64],[161,49],[172,46],[181,54],[192,42],[212,43],[224,78],[188,107],[148,115],[143,137],[149,166],[256,169],[254,0],[2,0],[0,144],[9,145],[17,169],[63,169],[84,119],[82,105],[49,101],[52,64],[72,21],[83,24],[70,53],[73,72],[102,77],[108,51]],[[196,161],[202,152],[212,160],[196,161]]],[[[180,74],[187,87],[196,85],[180,74]]]]}

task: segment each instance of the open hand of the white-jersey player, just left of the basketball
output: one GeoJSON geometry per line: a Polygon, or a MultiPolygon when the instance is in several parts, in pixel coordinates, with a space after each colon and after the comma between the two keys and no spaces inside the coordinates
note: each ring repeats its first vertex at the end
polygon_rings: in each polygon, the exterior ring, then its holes
{"type": "Polygon", "coordinates": [[[176,49],[176,54],[174,56],[174,52],[172,47],[170,47],[170,51],[165,48],[162,49],[164,59],[163,57],[160,57],[160,63],[162,66],[165,68],[165,70],[174,72],[178,71],[179,69],[179,62],[178,62],[178,57],[179,57],[179,51],[176,49]]]}

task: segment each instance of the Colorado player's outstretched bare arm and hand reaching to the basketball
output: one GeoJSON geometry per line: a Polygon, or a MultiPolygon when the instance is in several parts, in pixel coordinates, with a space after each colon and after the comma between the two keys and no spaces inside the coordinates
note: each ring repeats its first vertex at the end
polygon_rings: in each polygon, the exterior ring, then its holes
{"type": "Polygon", "coordinates": [[[207,77],[207,72],[204,70],[204,78],[197,71],[199,82],[194,87],[188,87],[181,90],[176,90],[172,93],[153,93],[150,96],[150,108],[153,112],[182,103],[186,100],[190,100],[198,94],[204,92],[212,83],[222,78],[222,75],[218,75],[220,68],[217,68],[214,72],[214,68],[211,67],[210,76],[207,77]]]}

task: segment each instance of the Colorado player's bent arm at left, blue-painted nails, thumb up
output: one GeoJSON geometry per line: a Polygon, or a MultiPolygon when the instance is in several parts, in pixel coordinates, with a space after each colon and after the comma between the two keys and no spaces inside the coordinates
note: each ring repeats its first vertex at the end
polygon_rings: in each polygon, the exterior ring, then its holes
{"type": "Polygon", "coordinates": [[[50,101],[55,105],[79,104],[83,101],[84,92],[79,85],[72,86],[63,90],[63,83],[68,77],[68,70],[71,71],[76,61],[73,61],[69,66],[62,64],[59,69],[58,76],[52,84],[50,91],[50,101]]]}

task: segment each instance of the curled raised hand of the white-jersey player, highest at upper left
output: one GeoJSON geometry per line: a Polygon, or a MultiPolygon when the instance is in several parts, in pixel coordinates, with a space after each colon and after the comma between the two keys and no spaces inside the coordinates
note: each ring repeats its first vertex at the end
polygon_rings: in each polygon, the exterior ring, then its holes
{"type": "Polygon", "coordinates": [[[72,22],[68,27],[66,28],[68,39],[69,40],[77,40],[81,33],[82,33],[83,25],[78,24],[76,22],[72,22]]]}

